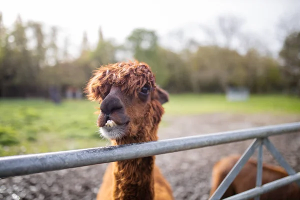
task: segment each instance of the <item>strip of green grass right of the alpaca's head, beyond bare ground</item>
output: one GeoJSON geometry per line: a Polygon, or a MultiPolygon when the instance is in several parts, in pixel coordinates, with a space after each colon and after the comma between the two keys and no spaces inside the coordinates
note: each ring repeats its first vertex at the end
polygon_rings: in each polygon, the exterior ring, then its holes
{"type": "Polygon", "coordinates": [[[171,95],[164,105],[167,114],[199,114],[210,112],[300,113],[300,98],[284,95],[251,95],[247,101],[229,102],[220,94],[171,95]]]}

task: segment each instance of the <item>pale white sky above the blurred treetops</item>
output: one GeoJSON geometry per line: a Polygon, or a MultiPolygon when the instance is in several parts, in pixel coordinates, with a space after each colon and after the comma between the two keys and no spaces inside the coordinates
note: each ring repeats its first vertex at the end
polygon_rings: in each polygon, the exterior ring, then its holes
{"type": "Polygon", "coordinates": [[[24,21],[59,26],[70,39],[71,52],[78,50],[83,30],[95,44],[99,26],[105,38],[117,42],[133,28],[154,29],[161,43],[172,45],[170,31],[183,28],[187,36],[203,40],[198,24],[214,26],[217,16],[233,14],[244,19],[244,31],[276,51],[280,44],[275,25],[284,14],[300,12],[300,0],[0,0],[0,11],[6,26],[18,13],[24,21]]]}

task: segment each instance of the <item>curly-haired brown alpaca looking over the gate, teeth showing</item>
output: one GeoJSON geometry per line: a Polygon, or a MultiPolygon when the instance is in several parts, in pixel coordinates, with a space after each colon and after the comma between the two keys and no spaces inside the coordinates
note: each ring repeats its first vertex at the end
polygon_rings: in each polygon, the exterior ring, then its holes
{"type": "MultiPolygon", "coordinates": [[[[157,128],[168,93],[155,84],[146,63],[119,62],[101,66],[85,89],[101,102],[97,126],[112,145],[157,140],[157,128]]],[[[110,163],[97,199],[173,199],[155,156],[110,163]]]]}

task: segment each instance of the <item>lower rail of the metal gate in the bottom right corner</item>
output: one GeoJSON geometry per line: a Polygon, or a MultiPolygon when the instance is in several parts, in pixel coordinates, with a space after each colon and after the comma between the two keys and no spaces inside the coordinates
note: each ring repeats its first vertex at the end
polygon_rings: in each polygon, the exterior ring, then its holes
{"type": "Polygon", "coordinates": [[[266,184],[263,184],[260,187],[255,187],[253,189],[249,189],[247,191],[224,198],[223,200],[241,200],[241,199],[244,200],[244,199],[253,198],[254,196],[261,195],[263,193],[277,189],[279,187],[282,187],[284,185],[287,185],[287,184],[292,183],[297,180],[300,180],[300,172],[277,179],[277,180],[274,180],[272,182],[268,182],[266,184]]]}

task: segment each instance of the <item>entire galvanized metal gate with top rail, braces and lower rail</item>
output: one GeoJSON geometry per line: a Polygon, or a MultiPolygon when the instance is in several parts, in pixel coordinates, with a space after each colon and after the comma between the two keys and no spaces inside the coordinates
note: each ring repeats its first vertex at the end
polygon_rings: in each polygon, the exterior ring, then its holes
{"type": "Polygon", "coordinates": [[[243,192],[227,198],[248,199],[251,198],[251,196],[256,196],[256,200],[259,199],[260,194],[277,188],[278,185],[282,186],[292,181],[300,180],[300,174],[295,173],[267,139],[268,136],[290,133],[298,130],[300,130],[300,122],[294,122],[118,146],[6,156],[0,157],[0,178],[146,157],[255,138],[210,199],[220,199],[240,171],[243,164],[246,163],[248,158],[254,153],[256,147],[258,147],[256,187],[246,191],[250,193],[243,192]],[[279,179],[261,186],[262,145],[266,146],[290,176],[282,178],[283,180],[279,179]]]}

